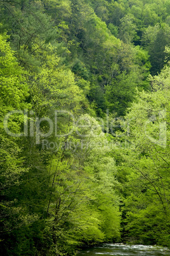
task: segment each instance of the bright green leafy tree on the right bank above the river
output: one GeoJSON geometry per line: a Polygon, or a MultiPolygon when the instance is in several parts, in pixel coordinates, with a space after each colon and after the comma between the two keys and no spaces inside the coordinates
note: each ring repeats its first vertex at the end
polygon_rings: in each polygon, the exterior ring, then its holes
{"type": "Polygon", "coordinates": [[[142,92],[126,115],[134,145],[124,153],[126,239],[128,232],[136,243],[169,246],[169,66],[150,79],[153,92],[142,92]]]}

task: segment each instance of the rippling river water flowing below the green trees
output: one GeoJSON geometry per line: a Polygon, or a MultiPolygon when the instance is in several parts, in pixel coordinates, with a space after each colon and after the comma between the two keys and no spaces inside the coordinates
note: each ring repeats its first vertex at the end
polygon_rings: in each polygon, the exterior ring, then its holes
{"type": "Polygon", "coordinates": [[[78,256],[107,256],[107,255],[169,255],[170,250],[168,248],[162,248],[160,246],[145,246],[145,245],[124,245],[122,243],[105,244],[102,246],[96,246],[88,248],[87,250],[81,250],[78,256]]]}

